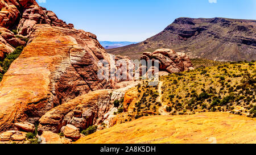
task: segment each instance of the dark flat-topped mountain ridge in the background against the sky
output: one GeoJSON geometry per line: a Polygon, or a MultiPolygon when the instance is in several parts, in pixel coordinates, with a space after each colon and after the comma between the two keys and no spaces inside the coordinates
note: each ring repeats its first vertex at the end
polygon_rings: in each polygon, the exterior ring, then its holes
{"type": "Polygon", "coordinates": [[[256,20],[178,18],[162,32],[138,44],[109,49],[138,58],[143,52],[171,48],[191,58],[216,61],[256,60],[256,20]]]}

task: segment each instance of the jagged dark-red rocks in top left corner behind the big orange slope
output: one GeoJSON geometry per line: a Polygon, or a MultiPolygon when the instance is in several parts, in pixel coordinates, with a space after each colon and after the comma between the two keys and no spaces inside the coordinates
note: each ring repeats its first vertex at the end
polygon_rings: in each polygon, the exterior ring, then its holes
{"type": "Polygon", "coordinates": [[[26,45],[21,38],[29,37],[35,31],[36,24],[73,29],[73,24],[58,19],[56,14],[40,7],[35,0],[0,1],[0,61],[12,53],[14,48],[26,45]]]}

